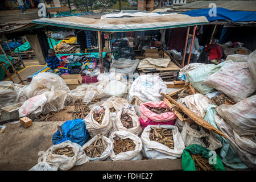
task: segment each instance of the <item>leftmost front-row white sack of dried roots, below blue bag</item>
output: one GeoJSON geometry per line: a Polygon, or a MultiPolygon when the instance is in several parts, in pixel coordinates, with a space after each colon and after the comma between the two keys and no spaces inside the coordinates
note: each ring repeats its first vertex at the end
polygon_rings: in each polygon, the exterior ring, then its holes
{"type": "Polygon", "coordinates": [[[89,159],[82,150],[82,147],[69,140],[51,146],[43,156],[43,162],[52,166],[57,166],[63,171],[69,170],[73,166],[79,166],[88,161],[89,159]]]}

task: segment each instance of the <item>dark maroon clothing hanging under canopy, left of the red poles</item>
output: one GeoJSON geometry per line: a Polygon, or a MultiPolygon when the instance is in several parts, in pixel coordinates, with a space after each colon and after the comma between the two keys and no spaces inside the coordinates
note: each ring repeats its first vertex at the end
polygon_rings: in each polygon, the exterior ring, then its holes
{"type": "Polygon", "coordinates": [[[187,28],[172,28],[171,34],[168,39],[168,49],[183,50],[185,39],[187,35],[187,28]]]}

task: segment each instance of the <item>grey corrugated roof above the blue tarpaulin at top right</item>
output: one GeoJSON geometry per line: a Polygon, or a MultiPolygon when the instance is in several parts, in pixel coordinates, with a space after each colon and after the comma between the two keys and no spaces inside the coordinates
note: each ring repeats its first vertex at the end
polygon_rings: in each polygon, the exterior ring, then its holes
{"type": "Polygon", "coordinates": [[[195,1],[180,6],[186,9],[209,8],[210,3],[216,3],[217,7],[224,7],[228,10],[256,11],[256,1],[195,1]]]}

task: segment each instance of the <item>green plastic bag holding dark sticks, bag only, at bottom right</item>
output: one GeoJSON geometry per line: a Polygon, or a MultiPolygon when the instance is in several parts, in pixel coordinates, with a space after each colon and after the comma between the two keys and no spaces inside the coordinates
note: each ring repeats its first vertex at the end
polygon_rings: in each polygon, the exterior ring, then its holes
{"type": "MultiPolygon", "coordinates": [[[[212,157],[213,154],[210,154],[210,150],[208,150],[207,148],[204,148],[203,146],[200,146],[199,144],[191,144],[184,149],[182,154],[181,163],[184,171],[196,171],[196,166],[190,153],[203,155],[205,158],[209,159],[209,161],[212,161],[210,157],[212,157]]],[[[217,154],[216,154],[216,164],[214,164],[214,161],[213,161],[212,166],[216,171],[225,171],[225,167],[221,162],[221,158],[217,154]]]]}

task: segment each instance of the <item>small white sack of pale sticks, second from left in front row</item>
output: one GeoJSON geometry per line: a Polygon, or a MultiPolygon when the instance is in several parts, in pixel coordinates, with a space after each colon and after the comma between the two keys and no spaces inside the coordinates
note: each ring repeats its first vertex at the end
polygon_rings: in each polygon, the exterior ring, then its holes
{"type": "Polygon", "coordinates": [[[98,134],[82,146],[91,161],[105,160],[113,150],[113,143],[109,138],[98,134]]]}

